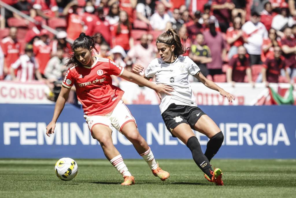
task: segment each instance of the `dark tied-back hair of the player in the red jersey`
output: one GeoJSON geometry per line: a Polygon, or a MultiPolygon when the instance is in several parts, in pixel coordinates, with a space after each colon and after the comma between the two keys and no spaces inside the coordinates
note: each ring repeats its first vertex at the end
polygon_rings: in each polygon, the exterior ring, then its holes
{"type": "MultiPolygon", "coordinates": [[[[87,49],[90,50],[90,48],[92,47],[94,50],[96,50],[97,53],[98,50],[96,49],[95,45],[95,40],[96,37],[100,37],[101,34],[96,34],[94,36],[87,36],[85,33],[80,33],[79,37],[77,39],[75,39],[75,41],[73,42],[72,45],[72,49],[76,49],[76,48],[83,48],[83,49],[87,49]]],[[[92,52],[91,52],[92,53],[92,52]]],[[[76,59],[74,51],[73,53],[70,55],[70,58],[68,58],[68,62],[66,63],[66,66],[76,66],[76,65],[81,65],[81,63],[76,59]]]]}

